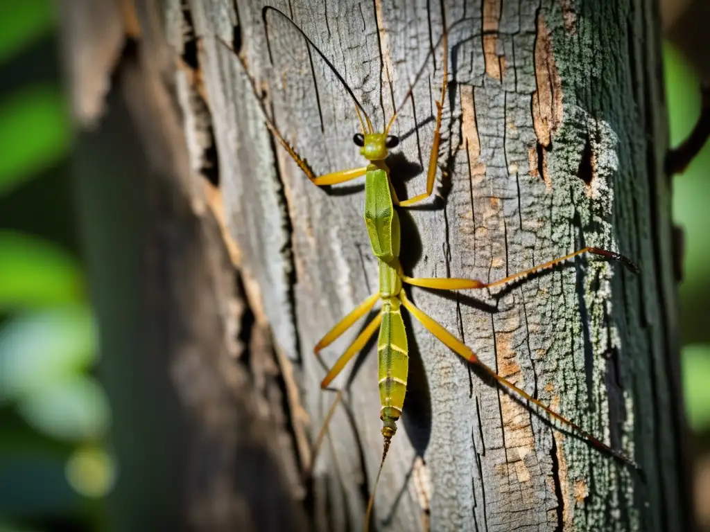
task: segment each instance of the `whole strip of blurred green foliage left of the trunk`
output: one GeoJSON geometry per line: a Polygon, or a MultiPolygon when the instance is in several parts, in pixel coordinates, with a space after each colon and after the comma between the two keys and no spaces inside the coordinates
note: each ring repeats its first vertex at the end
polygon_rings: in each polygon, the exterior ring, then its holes
{"type": "MultiPolygon", "coordinates": [[[[0,2],[5,73],[25,50],[54,40],[54,8],[49,0],[0,2]]],[[[0,228],[0,532],[50,530],[57,523],[85,529],[96,521],[92,499],[114,481],[103,445],[109,404],[91,375],[97,330],[84,272],[77,250],[55,241],[74,236],[51,227],[51,209],[70,216],[70,193],[20,194],[32,180],[70,187],[60,168],[72,135],[65,96],[53,77],[0,94],[0,216],[7,223],[7,213],[26,209],[33,218],[23,224],[16,216],[12,230],[0,228]],[[16,201],[26,204],[16,209],[16,201]],[[33,234],[37,221],[50,225],[42,235],[33,234]]]]}

